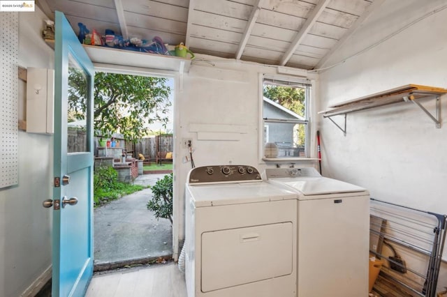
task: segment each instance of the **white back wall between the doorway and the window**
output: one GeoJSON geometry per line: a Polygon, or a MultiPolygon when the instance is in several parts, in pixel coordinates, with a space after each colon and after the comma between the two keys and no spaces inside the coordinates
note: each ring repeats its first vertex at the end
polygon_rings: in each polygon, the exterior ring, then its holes
{"type": "MultiPolygon", "coordinates": [[[[179,216],[179,238],[184,238],[184,185],[186,175],[191,169],[190,162],[182,162],[188,155],[188,149],[182,148],[182,138],[193,141],[193,158],[196,167],[205,165],[251,165],[263,172],[265,164],[259,158],[258,125],[259,125],[259,74],[276,74],[277,68],[261,66],[254,63],[243,63],[234,60],[218,59],[213,56],[196,55],[209,59],[206,62],[195,62],[189,73],[183,77],[183,89],[175,98],[176,161],[174,212],[179,216]],[[244,134],[234,140],[198,140],[198,133],[191,132],[191,124],[224,124],[242,125],[244,134]],[[246,133],[245,133],[246,132],[246,133]]],[[[314,129],[312,132],[314,135],[314,129]]],[[[224,137],[214,133],[217,137],[224,137]]],[[[312,156],[315,156],[312,139],[312,156]]],[[[300,162],[295,162],[297,166],[300,162]]],[[[286,163],[288,166],[289,164],[286,163]]],[[[314,163],[302,162],[309,166],[314,163]]],[[[228,218],[230,220],[230,218],[228,218]]]]}

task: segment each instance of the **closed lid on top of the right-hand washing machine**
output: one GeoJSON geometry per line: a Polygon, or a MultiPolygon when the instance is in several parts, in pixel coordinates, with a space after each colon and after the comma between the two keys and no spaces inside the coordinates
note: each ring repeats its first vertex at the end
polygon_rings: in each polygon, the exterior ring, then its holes
{"type": "Polygon", "coordinates": [[[306,196],[366,192],[358,185],[326,177],[270,178],[270,181],[283,183],[306,196]]]}

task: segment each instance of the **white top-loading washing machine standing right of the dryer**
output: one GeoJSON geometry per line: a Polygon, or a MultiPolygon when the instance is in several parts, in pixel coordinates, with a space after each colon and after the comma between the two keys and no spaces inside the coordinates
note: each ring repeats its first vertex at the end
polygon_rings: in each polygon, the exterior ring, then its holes
{"type": "Polygon", "coordinates": [[[369,192],[316,169],[266,169],[298,193],[298,297],[368,295],[369,192]]]}

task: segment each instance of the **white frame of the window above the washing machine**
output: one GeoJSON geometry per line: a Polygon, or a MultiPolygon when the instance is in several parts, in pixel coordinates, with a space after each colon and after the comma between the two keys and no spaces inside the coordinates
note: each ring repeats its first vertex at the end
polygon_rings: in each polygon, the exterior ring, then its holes
{"type": "MultiPolygon", "coordinates": [[[[293,162],[295,160],[313,160],[311,158],[311,153],[310,153],[310,146],[311,146],[311,137],[310,137],[310,133],[312,131],[311,126],[312,126],[312,116],[311,116],[311,105],[312,105],[312,81],[309,79],[305,79],[305,78],[297,78],[297,77],[288,77],[285,75],[270,75],[270,74],[265,74],[265,73],[260,73],[259,74],[259,95],[258,95],[258,120],[259,120],[259,135],[258,135],[258,157],[260,162],[265,162],[265,161],[274,161],[274,162],[293,162]],[[275,79],[275,80],[279,80],[282,82],[295,82],[298,84],[305,84],[305,85],[309,85],[309,87],[306,88],[306,104],[305,104],[305,121],[300,121],[300,120],[293,120],[293,122],[295,123],[304,123],[306,125],[306,141],[305,141],[305,157],[278,157],[278,158],[265,158],[264,155],[264,140],[265,140],[265,119],[263,117],[263,105],[264,105],[264,100],[263,100],[263,86],[264,86],[264,79],[275,79]]],[[[286,122],[286,120],[284,121],[278,121],[277,119],[270,119],[268,120],[269,122],[286,122]]],[[[270,131],[268,131],[268,133],[270,134],[270,131]]],[[[268,137],[270,135],[267,135],[268,137]]]]}

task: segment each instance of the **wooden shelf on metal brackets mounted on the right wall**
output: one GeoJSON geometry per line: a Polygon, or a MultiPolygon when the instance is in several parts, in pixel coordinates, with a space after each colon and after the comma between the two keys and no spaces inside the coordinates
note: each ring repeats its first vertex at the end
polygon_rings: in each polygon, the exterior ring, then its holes
{"type": "Polygon", "coordinates": [[[370,109],[374,107],[380,107],[384,105],[391,105],[399,102],[413,102],[416,106],[427,114],[427,116],[434,121],[436,128],[441,128],[441,100],[440,96],[447,93],[447,89],[437,88],[434,86],[420,86],[418,84],[406,84],[395,89],[390,89],[380,93],[374,93],[372,95],[363,96],[354,100],[345,101],[332,105],[327,110],[318,112],[322,114],[324,118],[330,119],[332,123],[337,125],[337,128],[342,130],[346,136],[346,114],[351,112],[358,112],[360,110],[370,109]],[[432,98],[436,101],[436,110],[433,115],[423,105],[418,102],[423,98],[432,98]],[[331,118],[332,116],[344,114],[344,128],[340,127],[331,118]]]}

